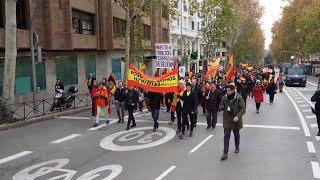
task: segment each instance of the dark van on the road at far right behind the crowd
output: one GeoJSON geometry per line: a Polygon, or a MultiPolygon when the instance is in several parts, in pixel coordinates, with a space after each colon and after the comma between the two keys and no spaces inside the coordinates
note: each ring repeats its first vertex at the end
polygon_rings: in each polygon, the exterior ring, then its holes
{"type": "Polygon", "coordinates": [[[307,76],[303,67],[289,67],[286,72],[286,86],[306,87],[307,76]]]}

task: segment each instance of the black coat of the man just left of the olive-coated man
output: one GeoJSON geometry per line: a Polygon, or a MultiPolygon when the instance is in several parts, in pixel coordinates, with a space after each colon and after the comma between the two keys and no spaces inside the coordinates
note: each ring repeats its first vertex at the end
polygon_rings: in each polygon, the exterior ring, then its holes
{"type": "Polygon", "coordinates": [[[212,91],[206,92],[204,98],[206,102],[206,108],[208,111],[219,110],[219,104],[221,102],[222,96],[218,89],[216,89],[214,92],[212,91]]]}

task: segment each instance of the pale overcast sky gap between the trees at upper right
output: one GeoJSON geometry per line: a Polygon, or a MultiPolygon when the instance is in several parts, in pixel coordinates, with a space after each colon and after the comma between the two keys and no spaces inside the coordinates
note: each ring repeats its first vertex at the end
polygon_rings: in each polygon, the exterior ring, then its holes
{"type": "Polygon", "coordinates": [[[282,7],[288,3],[285,0],[259,0],[260,5],[264,8],[264,14],[261,19],[261,27],[265,36],[265,48],[269,49],[272,41],[271,28],[273,23],[282,16],[282,7]]]}

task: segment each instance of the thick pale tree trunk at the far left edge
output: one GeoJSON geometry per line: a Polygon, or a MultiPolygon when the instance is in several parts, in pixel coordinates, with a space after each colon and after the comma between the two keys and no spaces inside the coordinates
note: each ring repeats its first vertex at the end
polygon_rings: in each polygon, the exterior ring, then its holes
{"type": "Polygon", "coordinates": [[[5,63],[3,77],[3,93],[5,111],[3,112],[4,121],[12,122],[13,114],[10,112],[13,109],[14,103],[14,85],[16,74],[16,58],[17,58],[17,22],[16,22],[16,1],[5,0],[5,63]]]}

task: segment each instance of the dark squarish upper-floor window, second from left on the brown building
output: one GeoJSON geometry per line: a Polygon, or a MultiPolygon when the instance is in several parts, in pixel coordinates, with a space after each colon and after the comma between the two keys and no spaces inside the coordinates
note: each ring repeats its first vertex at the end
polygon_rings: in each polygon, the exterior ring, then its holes
{"type": "Polygon", "coordinates": [[[94,35],[94,15],[72,10],[72,30],[74,34],[94,35]]]}

